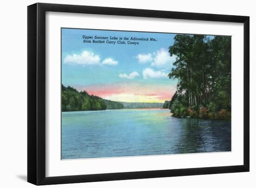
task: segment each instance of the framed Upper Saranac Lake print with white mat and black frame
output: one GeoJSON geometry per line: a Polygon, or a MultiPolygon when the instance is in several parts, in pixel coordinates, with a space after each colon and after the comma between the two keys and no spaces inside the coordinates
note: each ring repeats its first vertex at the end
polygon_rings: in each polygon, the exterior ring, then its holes
{"type": "Polygon", "coordinates": [[[249,17],[28,6],[28,181],[249,171],[249,17]]]}

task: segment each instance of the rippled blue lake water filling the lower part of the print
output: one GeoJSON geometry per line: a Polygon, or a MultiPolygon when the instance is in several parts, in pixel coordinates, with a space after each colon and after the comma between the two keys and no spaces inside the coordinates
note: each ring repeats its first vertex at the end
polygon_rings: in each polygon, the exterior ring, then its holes
{"type": "Polygon", "coordinates": [[[168,109],[63,112],[62,159],[231,151],[231,122],[168,109]]]}

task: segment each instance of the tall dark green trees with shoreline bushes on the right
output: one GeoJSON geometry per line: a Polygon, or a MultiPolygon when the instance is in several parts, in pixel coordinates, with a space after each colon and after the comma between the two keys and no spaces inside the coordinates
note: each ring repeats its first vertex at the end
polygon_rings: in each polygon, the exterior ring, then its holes
{"type": "Polygon", "coordinates": [[[177,34],[169,47],[176,55],[169,79],[177,90],[169,108],[175,117],[231,119],[231,37],[177,34]]]}

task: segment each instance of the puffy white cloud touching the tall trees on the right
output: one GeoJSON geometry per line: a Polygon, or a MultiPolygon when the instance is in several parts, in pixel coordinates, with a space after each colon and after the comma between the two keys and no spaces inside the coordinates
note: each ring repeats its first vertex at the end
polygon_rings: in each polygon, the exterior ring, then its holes
{"type": "Polygon", "coordinates": [[[176,55],[170,56],[169,52],[165,48],[157,50],[151,66],[153,67],[172,67],[173,62],[176,59],[176,55]]]}

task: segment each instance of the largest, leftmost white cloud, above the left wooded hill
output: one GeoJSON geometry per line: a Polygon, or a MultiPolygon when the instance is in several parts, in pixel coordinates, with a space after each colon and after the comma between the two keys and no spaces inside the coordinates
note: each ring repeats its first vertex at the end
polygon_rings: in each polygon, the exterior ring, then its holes
{"type": "Polygon", "coordinates": [[[93,52],[83,51],[81,54],[67,55],[64,63],[80,65],[97,65],[100,63],[100,56],[93,52]]]}

